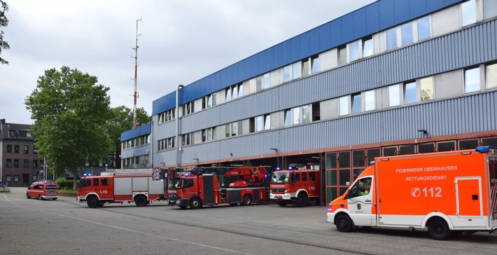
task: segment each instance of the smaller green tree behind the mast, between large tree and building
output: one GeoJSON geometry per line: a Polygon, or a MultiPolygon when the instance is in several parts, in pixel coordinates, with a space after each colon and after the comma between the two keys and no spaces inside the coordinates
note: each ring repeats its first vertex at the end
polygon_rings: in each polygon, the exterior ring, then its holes
{"type": "MultiPolygon", "coordinates": [[[[137,126],[144,125],[152,121],[152,116],[143,108],[137,108],[137,126]]],[[[121,168],[119,156],[121,154],[121,133],[133,128],[133,110],[126,106],[118,106],[111,109],[111,117],[107,125],[107,133],[111,137],[114,146],[113,160],[116,168],[121,168]]]]}

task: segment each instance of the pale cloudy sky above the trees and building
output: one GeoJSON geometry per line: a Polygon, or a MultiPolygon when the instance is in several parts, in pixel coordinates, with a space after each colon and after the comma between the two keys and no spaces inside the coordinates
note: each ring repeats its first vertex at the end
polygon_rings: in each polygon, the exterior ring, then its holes
{"type": "Polygon", "coordinates": [[[152,102],[375,0],[3,0],[10,45],[0,64],[0,118],[32,124],[25,99],[45,70],[97,76],[111,107],[152,102]],[[137,20],[140,20],[137,22],[137,20]],[[138,27],[138,30],[137,30],[138,27]],[[138,34],[138,36],[137,36],[138,34]],[[138,38],[138,54],[135,45],[138,38]]]}

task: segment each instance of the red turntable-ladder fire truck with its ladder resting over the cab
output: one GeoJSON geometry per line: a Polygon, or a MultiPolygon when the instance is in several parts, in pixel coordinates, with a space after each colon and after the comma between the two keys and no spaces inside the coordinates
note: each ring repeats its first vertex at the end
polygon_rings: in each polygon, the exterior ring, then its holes
{"type": "Polygon", "coordinates": [[[221,204],[251,205],[267,200],[265,167],[169,168],[154,172],[154,179],[167,182],[169,205],[182,209],[221,204]],[[232,178],[236,180],[232,181],[232,178]],[[223,188],[225,183],[229,183],[228,188],[223,188]]]}

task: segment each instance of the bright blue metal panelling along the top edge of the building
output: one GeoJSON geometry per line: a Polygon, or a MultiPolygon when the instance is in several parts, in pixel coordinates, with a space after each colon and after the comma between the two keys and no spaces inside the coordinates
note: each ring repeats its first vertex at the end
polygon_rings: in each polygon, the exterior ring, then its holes
{"type": "MultiPolygon", "coordinates": [[[[305,57],[460,2],[462,1],[379,0],[187,85],[182,89],[180,102],[193,101],[305,57]]],[[[152,105],[152,115],[173,109],[175,105],[176,91],[156,99],[152,105]]]]}

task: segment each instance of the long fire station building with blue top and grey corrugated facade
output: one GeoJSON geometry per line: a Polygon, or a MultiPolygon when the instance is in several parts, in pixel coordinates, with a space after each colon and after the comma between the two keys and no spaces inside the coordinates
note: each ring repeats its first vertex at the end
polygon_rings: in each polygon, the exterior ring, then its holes
{"type": "Polygon", "coordinates": [[[122,160],[320,169],[325,205],[374,157],[496,146],[496,110],[497,1],[378,0],[178,85],[122,160]]]}

